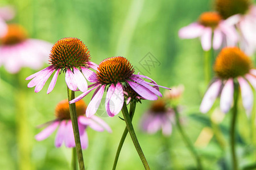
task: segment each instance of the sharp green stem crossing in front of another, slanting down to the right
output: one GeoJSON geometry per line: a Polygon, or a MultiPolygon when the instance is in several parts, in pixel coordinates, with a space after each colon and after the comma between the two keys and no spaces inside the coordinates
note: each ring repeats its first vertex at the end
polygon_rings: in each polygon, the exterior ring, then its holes
{"type": "Polygon", "coordinates": [[[125,122],[126,122],[126,127],[131,135],[131,139],[133,140],[133,144],[139,154],[139,158],[141,158],[141,161],[144,165],[144,168],[145,169],[150,169],[148,163],[147,163],[147,160],[143,154],[143,151],[142,151],[142,148],[141,146],[139,145],[139,141],[136,137],[136,134],[135,134],[135,131],[133,129],[133,124],[131,124],[131,118],[130,118],[130,115],[128,113],[128,110],[127,110],[127,107],[126,107],[126,103],[123,103],[123,108],[122,108],[122,113],[123,113],[123,118],[125,118],[125,122]]]}

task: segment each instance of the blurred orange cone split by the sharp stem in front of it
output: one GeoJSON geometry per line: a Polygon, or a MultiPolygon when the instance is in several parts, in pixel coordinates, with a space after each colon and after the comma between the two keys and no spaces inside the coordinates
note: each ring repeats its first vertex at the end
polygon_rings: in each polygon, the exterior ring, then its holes
{"type": "MultiPolygon", "coordinates": [[[[77,116],[82,116],[85,114],[86,105],[83,100],[76,102],[77,116]]],[[[57,104],[55,108],[55,116],[59,120],[70,120],[69,104],[68,100],[62,100],[57,104]]]]}

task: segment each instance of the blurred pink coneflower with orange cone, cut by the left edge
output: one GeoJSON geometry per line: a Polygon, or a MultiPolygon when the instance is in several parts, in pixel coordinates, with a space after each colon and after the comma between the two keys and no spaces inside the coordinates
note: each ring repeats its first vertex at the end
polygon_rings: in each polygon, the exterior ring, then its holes
{"type": "Polygon", "coordinates": [[[18,24],[9,24],[0,41],[0,65],[13,74],[22,67],[42,67],[52,45],[43,40],[28,39],[25,29],[18,24]]]}

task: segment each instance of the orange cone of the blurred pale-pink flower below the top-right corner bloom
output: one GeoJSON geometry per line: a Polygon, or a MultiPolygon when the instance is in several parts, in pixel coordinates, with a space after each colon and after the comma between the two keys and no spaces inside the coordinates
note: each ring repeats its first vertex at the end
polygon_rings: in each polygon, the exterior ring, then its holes
{"type": "Polygon", "coordinates": [[[217,12],[204,12],[199,17],[199,23],[205,27],[215,28],[221,21],[221,16],[217,12]]]}

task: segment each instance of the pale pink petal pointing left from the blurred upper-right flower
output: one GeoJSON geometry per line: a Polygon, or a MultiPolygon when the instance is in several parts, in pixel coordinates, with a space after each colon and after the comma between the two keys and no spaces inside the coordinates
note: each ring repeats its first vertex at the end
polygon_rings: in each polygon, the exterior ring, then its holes
{"type": "Polygon", "coordinates": [[[194,39],[200,37],[203,32],[204,26],[198,23],[192,23],[187,27],[183,27],[179,30],[179,37],[181,39],[194,39]]]}

